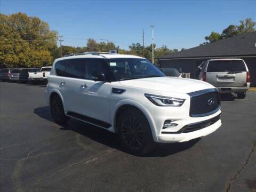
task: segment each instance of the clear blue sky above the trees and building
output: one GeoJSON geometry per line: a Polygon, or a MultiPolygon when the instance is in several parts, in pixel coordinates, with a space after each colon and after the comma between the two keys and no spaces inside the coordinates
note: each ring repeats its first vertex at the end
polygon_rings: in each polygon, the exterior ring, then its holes
{"type": "MultiPolygon", "coordinates": [[[[109,39],[121,49],[132,43],[189,49],[239,20],[256,21],[256,1],[6,1],[0,12],[23,12],[49,23],[63,45],[86,46],[87,38],[109,39]]],[[[104,40],[103,40],[104,41],[104,40]]]]}

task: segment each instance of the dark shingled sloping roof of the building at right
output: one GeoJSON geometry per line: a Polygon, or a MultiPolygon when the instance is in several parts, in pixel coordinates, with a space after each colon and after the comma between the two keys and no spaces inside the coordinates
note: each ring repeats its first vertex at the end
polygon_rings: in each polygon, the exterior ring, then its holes
{"type": "Polygon", "coordinates": [[[222,39],[217,42],[197,46],[177,53],[163,55],[158,59],[228,57],[256,55],[256,31],[222,39]]]}

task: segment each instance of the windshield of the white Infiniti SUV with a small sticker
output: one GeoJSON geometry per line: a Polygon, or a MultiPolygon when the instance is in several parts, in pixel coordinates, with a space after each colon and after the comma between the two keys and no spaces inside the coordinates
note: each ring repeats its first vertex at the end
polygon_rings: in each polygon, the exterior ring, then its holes
{"type": "Polygon", "coordinates": [[[118,81],[165,76],[147,59],[118,58],[107,59],[107,62],[118,81]]]}

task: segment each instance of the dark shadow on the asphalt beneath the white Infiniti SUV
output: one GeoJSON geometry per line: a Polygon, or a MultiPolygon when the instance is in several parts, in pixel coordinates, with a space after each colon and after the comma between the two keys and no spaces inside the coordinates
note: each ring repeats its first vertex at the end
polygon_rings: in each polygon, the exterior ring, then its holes
{"type": "MultiPolygon", "coordinates": [[[[47,121],[53,122],[51,116],[51,111],[49,106],[38,107],[34,109],[34,113],[47,121]]],[[[125,151],[118,141],[118,137],[115,133],[109,132],[107,130],[101,129],[100,127],[78,121],[77,119],[71,118],[69,122],[65,125],[60,125],[61,131],[74,131],[84,137],[84,139],[90,139],[95,142],[101,143],[101,145],[108,146],[110,148],[123,151],[124,153],[129,153],[125,151]]],[[[165,157],[179,153],[183,150],[187,150],[193,147],[201,138],[197,138],[188,142],[183,143],[156,143],[156,147],[149,154],[143,155],[143,157],[165,157]]]]}

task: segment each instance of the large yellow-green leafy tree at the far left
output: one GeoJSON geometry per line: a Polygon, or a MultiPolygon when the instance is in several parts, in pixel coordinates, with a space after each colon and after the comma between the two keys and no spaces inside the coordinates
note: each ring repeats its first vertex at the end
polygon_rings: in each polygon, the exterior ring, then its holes
{"type": "Polygon", "coordinates": [[[0,65],[7,68],[50,65],[57,31],[25,13],[0,14],[0,65]]]}

